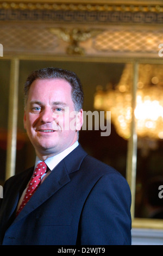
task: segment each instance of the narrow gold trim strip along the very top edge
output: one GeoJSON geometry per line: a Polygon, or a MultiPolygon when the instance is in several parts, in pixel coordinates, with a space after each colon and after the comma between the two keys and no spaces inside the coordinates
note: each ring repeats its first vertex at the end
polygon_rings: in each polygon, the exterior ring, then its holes
{"type": "Polygon", "coordinates": [[[27,10],[65,10],[65,11],[131,11],[131,12],[163,12],[162,1],[59,1],[31,0],[30,2],[20,0],[7,0],[0,3],[0,9],[27,9],[27,10]]]}

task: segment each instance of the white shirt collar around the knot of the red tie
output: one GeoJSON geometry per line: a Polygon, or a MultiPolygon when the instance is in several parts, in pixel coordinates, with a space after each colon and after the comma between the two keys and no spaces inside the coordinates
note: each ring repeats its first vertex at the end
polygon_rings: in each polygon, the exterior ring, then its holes
{"type": "MultiPolygon", "coordinates": [[[[71,147],[65,149],[64,151],[62,151],[61,153],[59,153],[58,155],[52,156],[52,157],[48,157],[45,160],[46,165],[48,166],[48,168],[50,170],[53,170],[55,166],[57,166],[57,164],[64,159],[68,154],[71,153],[72,150],[74,150],[75,148],[77,148],[79,145],[79,142],[76,141],[73,145],[71,145],[71,147]]],[[[39,159],[39,157],[36,156],[36,161],[35,161],[35,168],[37,166],[37,164],[41,162],[41,160],[39,159]]]]}

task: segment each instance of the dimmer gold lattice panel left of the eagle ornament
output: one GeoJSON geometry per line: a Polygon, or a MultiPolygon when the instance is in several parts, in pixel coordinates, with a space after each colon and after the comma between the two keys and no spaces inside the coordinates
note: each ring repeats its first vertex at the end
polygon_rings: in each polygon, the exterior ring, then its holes
{"type": "Polygon", "coordinates": [[[3,26],[0,28],[1,44],[5,52],[54,52],[57,38],[41,26],[3,26]]]}

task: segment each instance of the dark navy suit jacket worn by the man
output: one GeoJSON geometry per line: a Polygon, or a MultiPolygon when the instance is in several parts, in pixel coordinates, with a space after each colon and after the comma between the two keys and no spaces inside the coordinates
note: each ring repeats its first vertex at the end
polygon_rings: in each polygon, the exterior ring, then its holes
{"type": "Polygon", "coordinates": [[[0,207],[3,245],[130,245],[130,189],[115,169],[79,145],[15,211],[33,168],[5,182],[0,207]]]}

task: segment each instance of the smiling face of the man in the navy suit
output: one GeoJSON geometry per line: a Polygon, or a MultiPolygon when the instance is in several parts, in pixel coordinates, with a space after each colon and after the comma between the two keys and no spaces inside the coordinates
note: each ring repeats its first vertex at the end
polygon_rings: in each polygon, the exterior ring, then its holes
{"type": "Polygon", "coordinates": [[[75,121],[71,115],[74,111],[71,85],[67,81],[51,78],[35,80],[31,84],[24,111],[24,128],[42,160],[59,154],[77,141],[83,110],[78,112],[75,121]]]}

